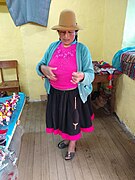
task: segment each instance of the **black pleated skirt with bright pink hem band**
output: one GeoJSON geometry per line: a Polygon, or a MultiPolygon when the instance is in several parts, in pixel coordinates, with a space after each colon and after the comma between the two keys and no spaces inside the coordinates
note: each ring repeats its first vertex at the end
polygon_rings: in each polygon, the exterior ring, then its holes
{"type": "Polygon", "coordinates": [[[61,91],[51,87],[46,109],[46,132],[66,140],[78,140],[81,132],[92,132],[91,98],[83,103],[78,88],[61,91]]]}

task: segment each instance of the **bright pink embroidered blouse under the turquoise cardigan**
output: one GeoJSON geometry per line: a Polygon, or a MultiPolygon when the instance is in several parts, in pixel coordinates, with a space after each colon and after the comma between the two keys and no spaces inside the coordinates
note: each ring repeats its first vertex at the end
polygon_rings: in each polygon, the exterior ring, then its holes
{"type": "Polygon", "coordinates": [[[57,70],[53,71],[57,80],[50,80],[52,87],[59,90],[74,89],[77,87],[77,84],[71,82],[72,73],[77,71],[76,44],[64,47],[61,43],[55,50],[49,66],[57,67],[57,70]]]}

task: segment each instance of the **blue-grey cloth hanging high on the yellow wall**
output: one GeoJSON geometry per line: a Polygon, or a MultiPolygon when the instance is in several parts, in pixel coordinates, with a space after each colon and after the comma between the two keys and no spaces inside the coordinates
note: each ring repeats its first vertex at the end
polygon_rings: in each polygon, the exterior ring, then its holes
{"type": "Polygon", "coordinates": [[[16,26],[34,22],[47,26],[51,0],[6,0],[16,26]]]}

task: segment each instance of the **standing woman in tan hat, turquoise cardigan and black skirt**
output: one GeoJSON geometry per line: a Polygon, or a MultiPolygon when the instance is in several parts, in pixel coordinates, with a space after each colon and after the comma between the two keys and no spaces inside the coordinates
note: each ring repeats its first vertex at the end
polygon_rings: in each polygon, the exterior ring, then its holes
{"type": "Polygon", "coordinates": [[[46,132],[62,137],[58,148],[68,147],[65,160],[71,160],[82,132],[94,130],[90,99],[94,70],[89,49],[77,41],[81,28],[73,11],[62,11],[52,29],[59,40],[49,46],[36,70],[45,78],[48,94],[46,132]]]}

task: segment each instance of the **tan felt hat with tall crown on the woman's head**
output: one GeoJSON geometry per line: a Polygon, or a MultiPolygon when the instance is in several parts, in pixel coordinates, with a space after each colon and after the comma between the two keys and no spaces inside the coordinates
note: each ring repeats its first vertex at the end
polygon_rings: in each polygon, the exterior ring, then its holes
{"type": "Polygon", "coordinates": [[[73,31],[81,30],[82,28],[77,24],[75,13],[71,10],[65,9],[60,13],[59,24],[52,27],[52,30],[73,31]]]}

